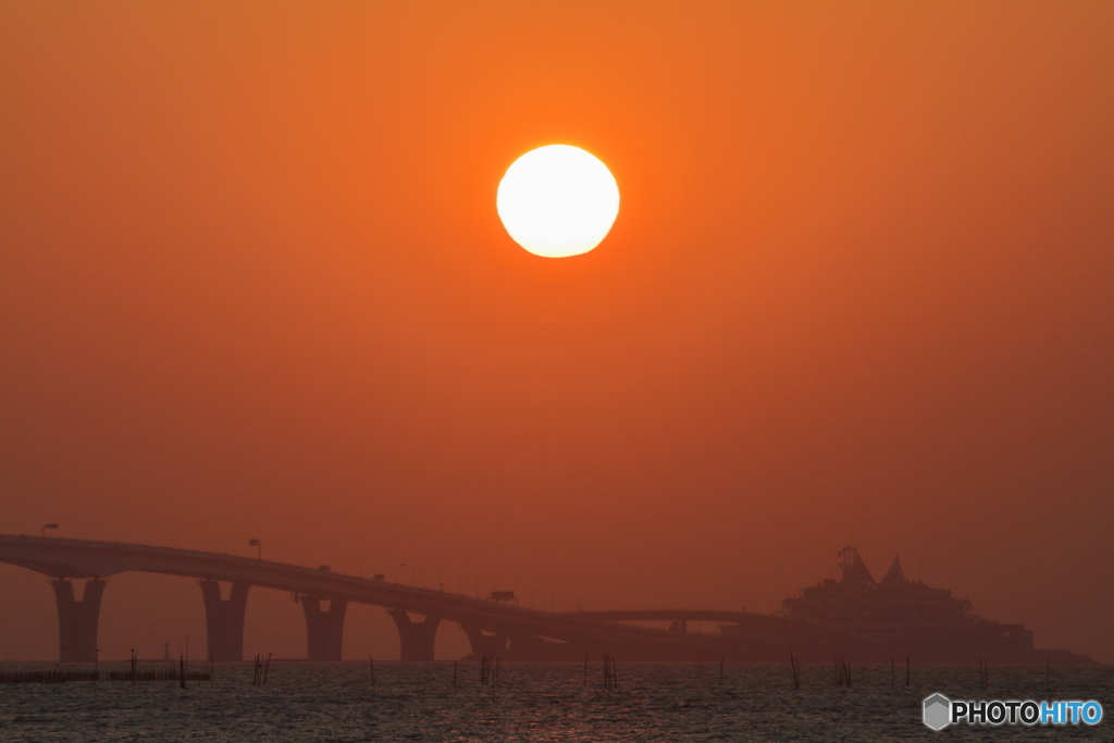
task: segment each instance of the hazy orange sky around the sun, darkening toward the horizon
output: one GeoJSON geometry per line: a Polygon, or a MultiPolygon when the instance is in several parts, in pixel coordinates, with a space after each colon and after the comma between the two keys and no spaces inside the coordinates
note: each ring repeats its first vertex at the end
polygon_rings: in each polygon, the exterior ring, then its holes
{"type": "MultiPolygon", "coordinates": [[[[1112,131],[1105,2],[0,3],[0,531],[558,609],[773,610],[854,544],[1114,661],[1112,131]],[[576,258],[495,211],[554,143],[623,194],[576,258]]],[[[252,594],[247,655],[303,633],[252,594]]],[[[187,635],[192,581],[109,586],[107,657],[187,635]]]]}

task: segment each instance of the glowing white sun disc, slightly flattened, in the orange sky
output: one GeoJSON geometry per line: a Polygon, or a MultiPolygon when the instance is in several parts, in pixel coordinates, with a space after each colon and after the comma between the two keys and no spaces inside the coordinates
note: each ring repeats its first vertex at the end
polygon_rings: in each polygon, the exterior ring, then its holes
{"type": "Polygon", "coordinates": [[[548,145],[507,168],[496,209],[511,238],[530,253],[579,255],[607,236],[619,212],[619,188],[595,155],[548,145]]]}

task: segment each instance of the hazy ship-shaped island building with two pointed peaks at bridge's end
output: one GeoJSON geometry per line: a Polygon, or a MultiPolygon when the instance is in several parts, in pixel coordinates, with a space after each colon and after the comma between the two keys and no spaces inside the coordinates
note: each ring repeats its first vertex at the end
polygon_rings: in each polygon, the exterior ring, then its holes
{"type": "Polygon", "coordinates": [[[858,549],[844,547],[839,555],[842,577],[785,598],[781,627],[721,626],[731,655],[776,659],[792,645],[809,661],[838,655],[867,663],[1093,663],[1067,649],[1037,648],[1024,625],[985,619],[947,588],[907,579],[899,557],[874,580],[858,549]]]}

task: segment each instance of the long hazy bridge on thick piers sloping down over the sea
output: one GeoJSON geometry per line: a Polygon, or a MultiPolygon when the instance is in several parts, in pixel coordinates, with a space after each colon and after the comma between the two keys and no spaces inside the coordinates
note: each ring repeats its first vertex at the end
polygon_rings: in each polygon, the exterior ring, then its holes
{"type": "Polygon", "coordinates": [[[550,613],[446,593],[250,557],[170,547],[88,539],[0,535],[0,563],[51,578],[58,606],[59,658],[92,663],[105,578],[129,570],[187,576],[198,580],[205,604],[207,655],[243,659],[244,614],[252,587],[291,592],[305,615],[306,656],[340,661],[344,614],[350,603],[381,606],[398,627],[403,661],[432,661],[442,620],[460,625],[472,656],[573,659],[586,654],[631,659],[768,659],[793,645],[831,644],[802,623],[745,612],[646,609],[550,613]],[[75,579],[86,579],[82,596],[75,579]],[[231,584],[222,592],[222,581],[231,584]],[[328,608],[325,603],[328,602],[328,608]],[[420,617],[417,618],[416,617],[420,617]],[[619,624],[670,620],[672,629],[619,624]],[[690,620],[725,623],[721,635],[688,633],[690,620]]]}

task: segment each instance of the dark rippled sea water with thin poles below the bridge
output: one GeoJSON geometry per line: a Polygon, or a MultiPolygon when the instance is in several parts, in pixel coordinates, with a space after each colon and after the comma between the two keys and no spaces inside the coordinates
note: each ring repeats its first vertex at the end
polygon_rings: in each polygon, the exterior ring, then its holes
{"type": "MultiPolygon", "coordinates": [[[[157,664],[144,663],[144,668],[157,664]]],[[[167,667],[177,663],[166,664],[167,667]]],[[[0,664],[0,671],[59,664],[0,664]]],[[[87,668],[87,666],[78,666],[87,668]]],[[[127,664],[100,664],[101,671],[127,664]]],[[[0,684],[0,741],[1114,741],[1114,667],[851,667],[831,665],[272,662],[216,664],[212,682],[0,684]],[[606,685],[605,685],[606,684],[606,685]],[[1047,686],[1046,686],[1047,684],[1047,686]],[[932,732],[922,700],[1096,700],[1103,721],[1078,725],[960,724],[932,732]]],[[[208,671],[193,664],[189,671],[208,671]]]]}

